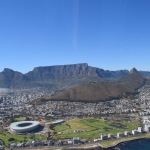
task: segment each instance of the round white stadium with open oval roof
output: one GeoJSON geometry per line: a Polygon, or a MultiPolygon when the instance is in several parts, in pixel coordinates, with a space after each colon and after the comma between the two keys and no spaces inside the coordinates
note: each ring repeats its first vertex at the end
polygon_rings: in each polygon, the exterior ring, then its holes
{"type": "Polygon", "coordinates": [[[38,121],[20,121],[10,125],[10,130],[14,133],[26,133],[39,127],[38,121]]]}

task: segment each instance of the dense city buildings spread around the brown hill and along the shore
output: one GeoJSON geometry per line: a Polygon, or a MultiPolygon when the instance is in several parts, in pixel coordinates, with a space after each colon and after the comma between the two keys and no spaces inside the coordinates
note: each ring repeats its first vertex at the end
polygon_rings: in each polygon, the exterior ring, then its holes
{"type": "MultiPolygon", "coordinates": [[[[33,88],[23,89],[15,91],[1,91],[0,92],[0,133],[4,130],[9,131],[9,126],[13,122],[13,118],[26,117],[28,120],[47,120],[47,119],[62,119],[65,122],[81,116],[95,116],[104,118],[108,114],[138,114],[142,124],[132,132],[124,131],[113,134],[101,134],[99,138],[94,138],[90,142],[100,142],[103,140],[109,140],[114,138],[122,138],[126,136],[136,136],[137,134],[143,134],[143,132],[150,131],[150,83],[147,83],[140,88],[139,94],[134,98],[121,98],[111,101],[98,102],[98,103],[84,103],[84,102],[68,102],[68,101],[47,101],[40,105],[32,104],[31,102],[37,98],[43,96],[50,96],[54,94],[54,91],[47,89],[33,88]]],[[[64,123],[62,121],[62,123],[64,123]]],[[[47,126],[46,126],[47,127],[47,126]]],[[[44,128],[43,132],[49,132],[49,129],[44,128]]],[[[52,131],[52,129],[50,129],[52,131]]],[[[42,133],[43,133],[42,132],[42,133]]],[[[86,132],[74,131],[74,132],[86,132]]],[[[34,141],[29,140],[27,143],[15,143],[10,144],[10,148],[13,147],[35,147],[35,146],[62,146],[62,145],[78,145],[87,141],[79,137],[73,139],[66,139],[57,141],[52,138],[46,140],[34,141]],[[84,141],[84,142],[83,142],[84,141]]],[[[0,149],[4,149],[5,145],[0,139],[0,149]]]]}

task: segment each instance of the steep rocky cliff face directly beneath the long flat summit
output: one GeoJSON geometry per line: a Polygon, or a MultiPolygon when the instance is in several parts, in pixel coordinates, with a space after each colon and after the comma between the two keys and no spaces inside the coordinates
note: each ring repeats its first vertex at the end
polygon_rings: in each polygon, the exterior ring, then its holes
{"type": "Polygon", "coordinates": [[[36,67],[26,74],[31,80],[49,80],[76,78],[82,76],[98,76],[95,69],[88,64],[60,65],[49,67],[36,67]]]}

